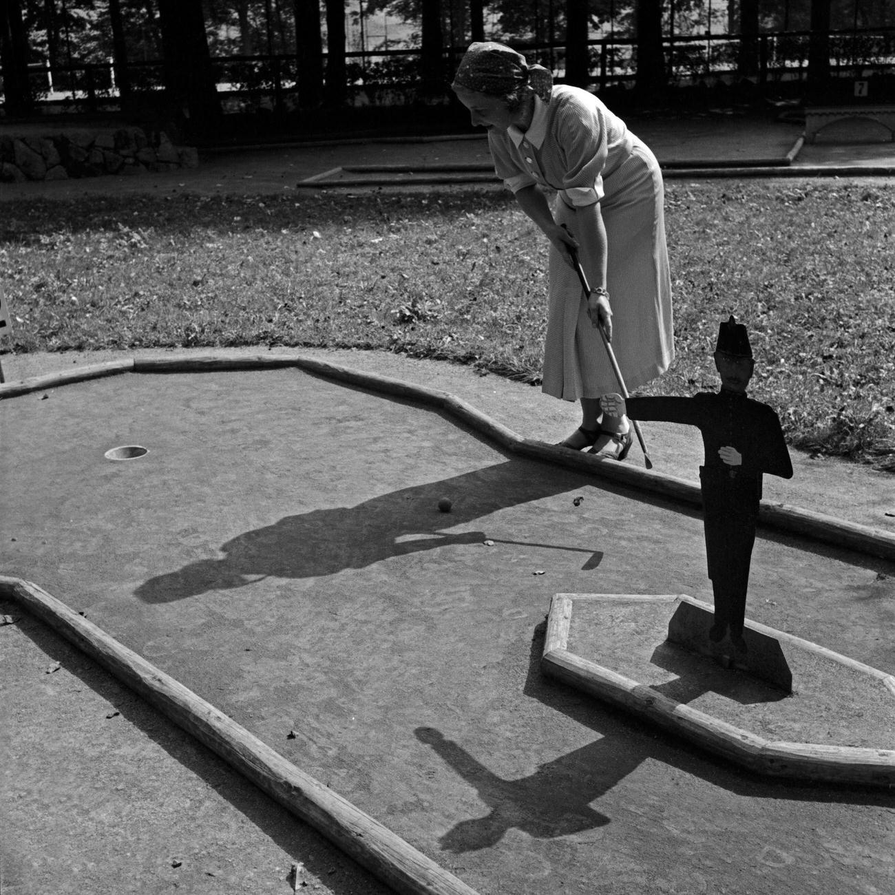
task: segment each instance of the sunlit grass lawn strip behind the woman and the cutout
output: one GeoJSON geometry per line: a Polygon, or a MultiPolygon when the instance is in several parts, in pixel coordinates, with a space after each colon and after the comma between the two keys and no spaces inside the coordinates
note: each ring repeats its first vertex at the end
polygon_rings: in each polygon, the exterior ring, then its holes
{"type": "MultiPolygon", "coordinates": [[[[791,445],[895,471],[895,186],[671,181],[666,224],[678,359],[644,394],[715,388],[733,313],[791,445]]],[[[505,192],[0,203],[16,352],[353,346],[537,382],[546,253],[505,192]]]]}

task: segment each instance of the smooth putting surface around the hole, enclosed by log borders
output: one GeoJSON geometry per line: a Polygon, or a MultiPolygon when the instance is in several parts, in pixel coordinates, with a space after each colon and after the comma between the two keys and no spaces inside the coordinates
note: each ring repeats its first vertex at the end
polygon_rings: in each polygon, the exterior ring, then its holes
{"type": "MultiPolygon", "coordinates": [[[[890,793],[755,779],[541,676],[558,592],[711,601],[697,512],[294,369],[97,379],[0,413],[4,574],[474,890],[895,882],[890,793]],[[148,453],[105,456],[128,446],[148,453]]],[[[891,672],[893,583],[762,532],[749,615],[891,672]]]]}

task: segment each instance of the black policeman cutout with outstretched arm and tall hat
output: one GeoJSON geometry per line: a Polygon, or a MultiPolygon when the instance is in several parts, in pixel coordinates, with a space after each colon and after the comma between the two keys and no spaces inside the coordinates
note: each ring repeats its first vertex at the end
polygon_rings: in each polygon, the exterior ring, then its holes
{"type": "Polygon", "coordinates": [[[734,651],[746,652],[743,622],[749,563],[755,542],[762,475],[792,478],[792,463],[780,420],[766,404],[746,397],[754,360],[746,327],[733,316],[722,322],[714,352],[721,388],[693,397],[630,397],[607,395],[603,410],[633,420],[664,420],[698,426],[703,434],[704,465],[699,467],[703,491],[705,552],[715,597],[709,638],[720,644],[730,635],[734,651]]]}

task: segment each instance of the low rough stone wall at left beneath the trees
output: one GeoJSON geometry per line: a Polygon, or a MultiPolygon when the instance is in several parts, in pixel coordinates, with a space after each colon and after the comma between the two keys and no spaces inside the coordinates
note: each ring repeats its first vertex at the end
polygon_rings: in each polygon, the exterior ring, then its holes
{"type": "Polygon", "coordinates": [[[196,167],[193,147],[175,146],[165,132],[150,137],[140,127],[71,130],[45,135],[0,132],[0,182],[137,175],[196,167]]]}

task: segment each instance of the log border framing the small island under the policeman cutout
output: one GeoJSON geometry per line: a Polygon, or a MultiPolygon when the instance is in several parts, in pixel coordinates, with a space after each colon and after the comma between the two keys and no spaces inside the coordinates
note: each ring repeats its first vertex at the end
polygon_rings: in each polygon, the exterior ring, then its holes
{"type": "MultiPolygon", "coordinates": [[[[558,593],[550,604],[547,636],[541,657],[541,669],[551,678],[574,686],[603,702],[611,703],[637,717],[651,721],[662,729],[718,754],[748,771],[766,776],[796,780],[822,780],[827,783],[853,783],[863,786],[895,787],[895,750],[858,746],[825,746],[816,743],[785,743],[767,740],[733,724],[700,712],[684,703],[675,702],[651,686],[597,662],[569,652],[568,632],[577,601],[652,601],[689,602],[712,612],[708,603],[686,594],[558,593]]],[[[799,649],[815,652],[838,661],[884,686],[895,707],[895,678],[884,671],[849,659],[823,646],[777,631],[758,622],[746,626],[799,649]]]]}

